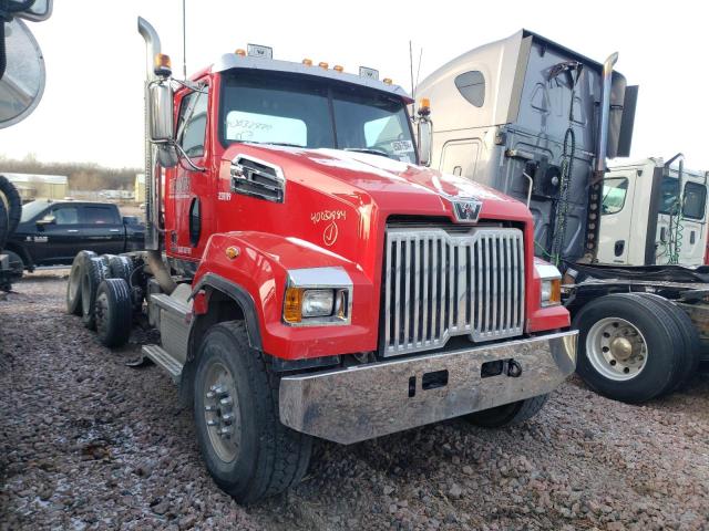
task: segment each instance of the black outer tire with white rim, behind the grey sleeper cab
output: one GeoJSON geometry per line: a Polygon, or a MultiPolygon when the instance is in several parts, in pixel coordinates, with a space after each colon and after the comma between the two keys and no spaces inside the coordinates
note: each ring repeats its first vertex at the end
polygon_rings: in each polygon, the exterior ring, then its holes
{"type": "Polygon", "coordinates": [[[583,306],[572,326],[579,331],[576,372],[596,393],[638,404],[678,382],[681,331],[655,301],[605,295],[583,306]]]}

